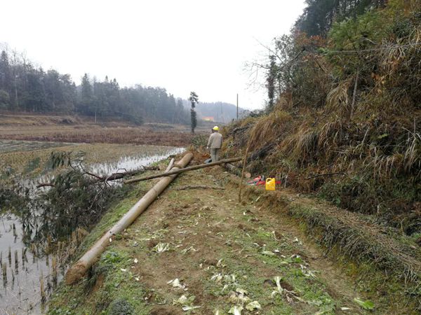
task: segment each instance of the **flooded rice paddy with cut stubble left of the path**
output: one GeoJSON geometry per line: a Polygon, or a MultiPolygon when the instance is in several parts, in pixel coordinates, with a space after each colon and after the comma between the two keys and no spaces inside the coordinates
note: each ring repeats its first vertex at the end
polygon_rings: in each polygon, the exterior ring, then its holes
{"type": "MultiPolygon", "coordinates": [[[[183,148],[133,146],[121,144],[62,144],[39,141],[0,140],[0,185],[8,176],[36,192],[38,183],[51,181],[56,171],[48,169],[52,151],[83,152],[83,163],[90,172],[104,176],[131,171],[181,153],[183,148]],[[7,173],[7,176],[4,175],[7,173]]],[[[46,189],[46,188],[43,188],[46,189]]],[[[38,248],[22,218],[0,204],[0,314],[43,314],[43,299],[62,279],[69,250],[56,244],[48,255],[38,248]],[[58,248],[57,248],[58,247],[58,248]]],[[[79,244],[82,236],[74,232],[67,244],[79,244]]],[[[48,246],[49,241],[46,241],[48,246]]]]}

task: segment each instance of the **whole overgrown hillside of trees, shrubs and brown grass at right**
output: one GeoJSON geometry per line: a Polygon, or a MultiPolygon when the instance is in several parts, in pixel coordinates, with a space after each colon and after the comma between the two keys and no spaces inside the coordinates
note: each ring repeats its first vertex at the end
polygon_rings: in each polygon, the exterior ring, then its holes
{"type": "Polygon", "coordinates": [[[308,0],[275,38],[267,108],[229,126],[248,169],[421,232],[421,3],[308,0]],[[306,34],[307,32],[307,34],[306,34]]]}

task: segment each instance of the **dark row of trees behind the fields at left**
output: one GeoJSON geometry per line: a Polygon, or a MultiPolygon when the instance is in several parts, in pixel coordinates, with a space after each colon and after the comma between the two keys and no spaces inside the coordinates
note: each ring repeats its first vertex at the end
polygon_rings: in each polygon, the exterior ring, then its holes
{"type": "Polygon", "coordinates": [[[69,74],[34,66],[25,54],[4,49],[0,54],[0,110],[66,113],[121,118],[133,123],[189,123],[182,99],[161,87],[120,87],[117,80],[84,74],[76,85],[69,74]]]}

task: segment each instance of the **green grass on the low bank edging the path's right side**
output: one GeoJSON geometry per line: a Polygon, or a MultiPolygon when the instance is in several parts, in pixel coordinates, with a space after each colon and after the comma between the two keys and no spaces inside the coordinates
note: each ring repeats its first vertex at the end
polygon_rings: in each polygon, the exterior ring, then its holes
{"type": "MultiPolygon", "coordinates": [[[[354,239],[360,239],[363,244],[367,242],[370,244],[369,253],[359,256],[359,253],[349,253],[347,250],[343,249],[343,246],[346,245],[346,241],[341,242],[338,239],[335,239],[332,235],[326,236],[326,233],[335,232],[335,221],[333,218],[328,218],[320,214],[317,209],[312,207],[300,207],[298,205],[290,206],[290,211],[295,218],[300,220],[300,226],[302,230],[307,233],[310,233],[314,239],[318,239],[320,244],[327,246],[330,252],[330,257],[337,260],[340,264],[340,267],[347,271],[347,274],[356,278],[356,288],[368,295],[368,297],[378,300],[382,307],[392,307],[394,305],[399,305],[402,301],[406,301],[405,304],[408,309],[417,309],[417,297],[420,297],[421,289],[420,286],[417,286],[417,282],[403,283],[402,279],[402,269],[401,266],[396,265],[396,269],[392,269],[391,266],[396,264],[395,258],[390,257],[387,253],[386,255],[382,253],[385,248],[377,245],[375,239],[364,239],[358,231],[352,231],[351,229],[345,231],[342,230],[342,235],[347,233],[355,233],[354,239]],[[323,216],[323,224],[314,223],[313,220],[319,221],[318,216],[323,216]],[[370,259],[369,254],[379,255],[383,258],[383,263],[386,266],[386,269],[377,263],[373,263],[370,259]],[[350,255],[354,255],[354,258],[350,258],[350,255]],[[367,255],[367,256],[365,256],[367,255]],[[390,260],[390,261],[389,261],[390,260]]],[[[321,218],[321,217],[320,217],[321,218]]],[[[338,231],[336,231],[338,232],[338,231]]],[[[352,237],[351,237],[352,239],[352,237]]],[[[408,245],[411,242],[408,240],[408,237],[401,236],[397,237],[394,235],[394,239],[399,241],[401,245],[408,245]]],[[[365,246],[365,245],[361,245],[365,246]]],[[[356,248],[358,251],[358,248],[356,248]]],[[[419,276],[419,275],[415,275],[419,276]]],[[[392,311],[389,309],[389,311],[392,311]]],[[[415,314],[415,313],[410,313],[415,314]]]]}

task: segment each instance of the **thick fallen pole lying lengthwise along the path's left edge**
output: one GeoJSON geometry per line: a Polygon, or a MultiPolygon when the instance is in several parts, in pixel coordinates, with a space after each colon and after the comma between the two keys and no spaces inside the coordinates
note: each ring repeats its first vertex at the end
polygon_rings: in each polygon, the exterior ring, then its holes
{"type": "MultiPolygon", "coordinates": [[[[189,164],[192,160],[193,154],[187,153],[178,163],[175,164],[174,168],[182,168],[189,164]]],[[[105,251],[108,244],[112,241],[112,237],[117,235],[128,226],[130,226],[143,211],[149,207],[156,197],[158,197],[163,190],[177,177],[177,174],[173,176],[165,177],[161,179],[156,185],[149,190],[141,200],[128,211],[124,216],[117,222],[111,229],[109,229],[105,235],[103,235],[93,246],[74,264],[66,274],[66,283],[72,284],[79,281],[82,276],[88,271],[88,269],[100,258],[101,253],[105,251]]]]}

